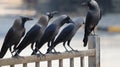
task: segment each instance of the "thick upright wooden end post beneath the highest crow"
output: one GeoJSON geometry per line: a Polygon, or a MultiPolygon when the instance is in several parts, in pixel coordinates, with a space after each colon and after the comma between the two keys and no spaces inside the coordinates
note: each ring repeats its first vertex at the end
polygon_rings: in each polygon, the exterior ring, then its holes
{"type": "Polygon", "coordinates": [[[100,37],[90,35],[88,37],[88,49],[95,49],[95,56],[88,57],[89,67],[100,67],[100,37]]]}

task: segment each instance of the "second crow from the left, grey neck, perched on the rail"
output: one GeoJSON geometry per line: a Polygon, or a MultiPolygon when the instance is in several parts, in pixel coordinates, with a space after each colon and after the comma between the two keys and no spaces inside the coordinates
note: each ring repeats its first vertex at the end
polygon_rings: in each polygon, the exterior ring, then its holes
{"type": "Polygon", "coordinates": [[[53,17],[54,14],[49,13],[47,16],[42,15],[38,22],[27,32],[23,40],[20,42],[18,47],[16,48],[15,56],[18,56],[19,53],[31,44],[31,49],[33,50],[34,43],[40,41],[41,36],[44,33],[46,26],[48,25],[49,20],[53,17]]]}

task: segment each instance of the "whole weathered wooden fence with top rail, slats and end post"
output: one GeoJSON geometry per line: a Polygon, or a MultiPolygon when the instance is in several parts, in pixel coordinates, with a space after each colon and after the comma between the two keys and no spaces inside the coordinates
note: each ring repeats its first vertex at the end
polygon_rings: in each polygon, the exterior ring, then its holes
{"type": "Polygon", "coordinates": [[[35,62],[35,67],[40,67],[40,62],[47,61],[48,67],[52,67],[52,60],[59,60],[59,67],[63,67],[63,59],[70,59],[70,67],[74,67],[74,58],[80,57],[80,65],[84,67],[84,57],[88,56],[89,67],[100,67],[100,38],[98,36],[89,36],[88,50],[78,52],[64,52],[60,54],[46,54],[45,56],[27,56],[21,58],[5,58],[0,59],[0,67],[9,65],[15,67],[16,64],[23,64],[27,67],[27,63],[35,62]]]}

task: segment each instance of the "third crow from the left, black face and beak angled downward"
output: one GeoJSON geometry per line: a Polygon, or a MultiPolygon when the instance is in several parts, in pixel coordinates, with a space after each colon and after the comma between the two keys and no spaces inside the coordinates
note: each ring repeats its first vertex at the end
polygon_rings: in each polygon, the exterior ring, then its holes
{"type": "MultiPolygon", "coordinates": [[[[50,42],[52,43],[55,36],[58,34],[59,29],[61,26],[63,26],[65,23],[71,23],[72,20],[67,15],[61,15],[57,17],[46,29],[45,32],[40,40],[35,45],[35,49],[32,53],[32,55],[36,54],[39,49],[48,42],[48,47],[50,46],[50,42]]],[[[39,51],[40,52],[40,51],[39,51]]]]}

